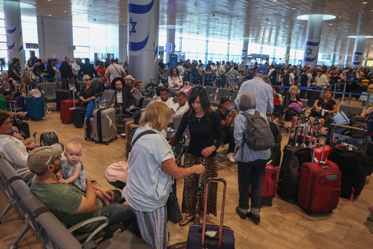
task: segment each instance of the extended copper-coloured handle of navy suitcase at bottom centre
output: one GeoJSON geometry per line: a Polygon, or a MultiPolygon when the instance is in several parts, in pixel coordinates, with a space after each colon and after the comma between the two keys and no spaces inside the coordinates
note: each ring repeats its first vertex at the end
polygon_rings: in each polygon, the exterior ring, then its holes
{"type": "Polygon", "coordinates": [[[218,243],[218,246],[222,246],[222,240],[223,240],[223,221],[224,221],[224,206],[225,206],[225,192],[226,192],[226,189],[227,189],[227,182],[223,178],[209,178],[209,179],[206,180],[205,210],[203,212],[203,226],[202,226],[201,244],[204,245],[204,243],[205,243],[206,215],[207,215],[207,195],[209,193],[209,183],[210,182],[213,182],[213,183],[222,182],[224,184],[223,202],[222,202],[222,213],[220,214],[220,225],[219,225],[219,243],[218,243]]]}

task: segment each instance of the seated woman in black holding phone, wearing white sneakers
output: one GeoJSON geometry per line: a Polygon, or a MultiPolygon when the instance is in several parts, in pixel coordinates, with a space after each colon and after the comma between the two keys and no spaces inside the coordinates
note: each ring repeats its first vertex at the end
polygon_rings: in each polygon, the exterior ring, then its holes
{"type": "Polygon", "coordinates": [[[236,116],[236,113],[231,112],[228,109],[230,103],[231,100],[228,97],[222,97],[215,112],[219,114],[220,122],[222,123],[223,141],[224,143],[229,143],[227,157],[229,158],[229,160],[231,160],[231,162],[235,162],[234,149],[236,147],[236,144],[234,142],[234,127],[232,126],[232,122],[233,118],[236,116]]]}

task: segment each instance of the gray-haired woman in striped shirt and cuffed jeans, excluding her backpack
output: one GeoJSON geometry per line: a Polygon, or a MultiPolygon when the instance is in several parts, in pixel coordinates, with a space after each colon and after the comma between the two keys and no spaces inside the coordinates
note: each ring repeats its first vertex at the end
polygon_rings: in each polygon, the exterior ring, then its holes
{"type": "MultiPolygon", "coordinates": [[[[243,93],[240,97],[238,108],[241,112],[254,115],[256,99],[251,93],[243,93]]],[[[266,114],[260,112],[266,119],[266,114]]],[[[247,136],[247,119],[244,115],[235,118],[234,138],[239,149],[236,154],[238,161],[238,193],[239,200],[236,212],[242,220],[250,218],[255,224],[260,222],[260,197],[262,175],[271,156],[270,149],[252,150],[244,141],[247,136]],[[249,210],[249,186],[251,184],[251,206],[249,210]]]]}

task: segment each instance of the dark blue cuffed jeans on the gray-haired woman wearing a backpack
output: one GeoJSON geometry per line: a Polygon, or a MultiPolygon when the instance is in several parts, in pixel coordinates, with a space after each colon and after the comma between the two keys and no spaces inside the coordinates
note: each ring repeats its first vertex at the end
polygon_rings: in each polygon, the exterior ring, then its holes
{"type": "Polygon", "coordinates": [[[241,212],[249,209],[249,186],[251,185],[250,212],[260,213],[261,183],[268,159],[238,162],[238,206],[241,212]]]}

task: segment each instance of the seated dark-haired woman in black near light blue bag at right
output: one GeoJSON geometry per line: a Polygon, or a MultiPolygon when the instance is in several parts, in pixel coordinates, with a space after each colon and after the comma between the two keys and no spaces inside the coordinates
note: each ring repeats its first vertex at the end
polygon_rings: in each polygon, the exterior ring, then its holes
{"type": "Polygon", "coordinates": [[[315,100],[313,107],[316,108],[316,112],[318,112],[319,114],[316,115],[311,111],[309,117],[312,120],[312,123],[315,122],[316,118],[319,118],[321,129],[322,127],[324,127],[324,124],[326,122],[325,113],[327,112],[329,114],[332,114],[337,112],[337,103],[335,103],[335,100],[332,99],[332,91],[330,91],[330,89],[326,89],[324,91],[324,96],[315,100]],[[322,112],[322,109],[324,110],[324,113],[322,112]]]}

